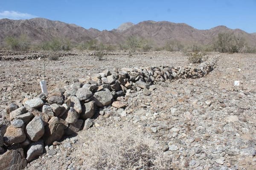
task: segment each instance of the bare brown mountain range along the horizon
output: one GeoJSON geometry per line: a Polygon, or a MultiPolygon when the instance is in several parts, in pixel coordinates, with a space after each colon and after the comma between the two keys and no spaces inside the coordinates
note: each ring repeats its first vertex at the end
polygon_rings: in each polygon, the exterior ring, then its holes
{"type": "Polygon", "coordinates": [[[52,21],[45,18],[30,20],[0,20],[0,45],[7,36],[19,37],[26,34],[31,43],[64,38],[74,44],[96,39],[105,44],[122,44],[129,36],[143,37],[162,46],[168,41],[178,41],[183,45],[211,44],[219,33],[231,32],[236,37],[242,37],[247,45],[256,46],[256,33],[249,34],[241,29],[230,29],[226,26],[216,26],[207,30],[199,30],[185,23],[171,23],[168,21],[143,21],[138,24],[123,23],[119,28],[111,31],[99,31],[95,28],[85,29],[75,24],[52,21]]]}

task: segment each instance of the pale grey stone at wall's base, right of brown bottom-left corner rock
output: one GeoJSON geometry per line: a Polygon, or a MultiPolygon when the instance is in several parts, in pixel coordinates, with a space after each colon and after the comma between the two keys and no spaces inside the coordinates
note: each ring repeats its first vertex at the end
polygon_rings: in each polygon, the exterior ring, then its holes
{"type": "Polygon", "coordinates": [[[37,158],[44,152],[44,141],[40,140],[38,142],[32,142],[29,145],[29,149],[27,151],[26,160],[32,161],[33,159],[37,158]]]}

